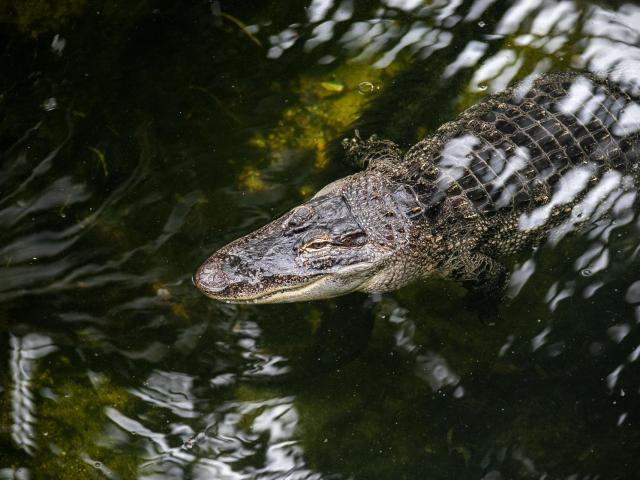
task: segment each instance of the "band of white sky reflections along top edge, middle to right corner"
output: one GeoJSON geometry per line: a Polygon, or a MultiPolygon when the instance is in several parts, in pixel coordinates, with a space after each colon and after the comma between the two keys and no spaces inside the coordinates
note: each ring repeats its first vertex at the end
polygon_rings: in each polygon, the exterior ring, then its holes
{"type": "MultiPolygon", "coordinates": [[[[351,23],[346,32],[336,38],[336,25],[351,18],[352,2],[312,1],[308,17],[315,26],[310,38],[304,40],[300,31],[306,28],[305,25],[291,25],[271,37],[269,57],[279,57],[300,39],[307,50],[337,41],[352,60],[372,59],[378,68],[390,65],[402,51],[423,59],[450,45],[451,28],[459,22],[477,21],[492,3],[476,0],[466,15],[462,15],[458,11],[463,2],[432,2],[425,6],[424,2],[390,0],[376,12],[375,18],[351,23]],[[421,20],[406,24],[398,22],[395,19],[397,10],[410,12],[421,20]]],[[[570,58],[573,67],[586,66],[595,72],[610,72],[611,78],[625,81],[630,88],[640,88],[640,81],[634,74],[640,64],[637,22],[634,23],[638,18],[640,9],[634,5],[623,5],[614,15],[602,7],[578,6],[572,1],[514,2],[502,15],[494,32],[487,32],[486,40],[469,41],[445,69],[444,77],[472,68],[471,89],[486,90],[488,85],[491,92],[502,90],[524,68],[528,53],[523,48],[526,47],[542,54],[533,69],[537,73],[548,70],[551,60],[558,56],[563,62],[570,58]],[[585,18],[581,19],[581,15],[585,18]],[[581,39],[570,43],[570,38],[576,34],[581,39]],[[488,45],[501,42],[505,37],[512,39],[512,44],[518,48],[501,48],[486,56],[488,45]]]]}

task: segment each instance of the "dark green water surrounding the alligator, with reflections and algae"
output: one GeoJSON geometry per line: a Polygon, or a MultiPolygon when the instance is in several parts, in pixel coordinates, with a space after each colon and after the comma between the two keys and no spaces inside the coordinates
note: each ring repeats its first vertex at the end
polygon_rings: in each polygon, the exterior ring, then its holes
{"type": "Polygon", "coordinates": [[[640,475],[634,216],[444,281],[223,305],[198,264],[532,72],[640,78],[618,2],[0,6],[0,478],[640,475]]]}

